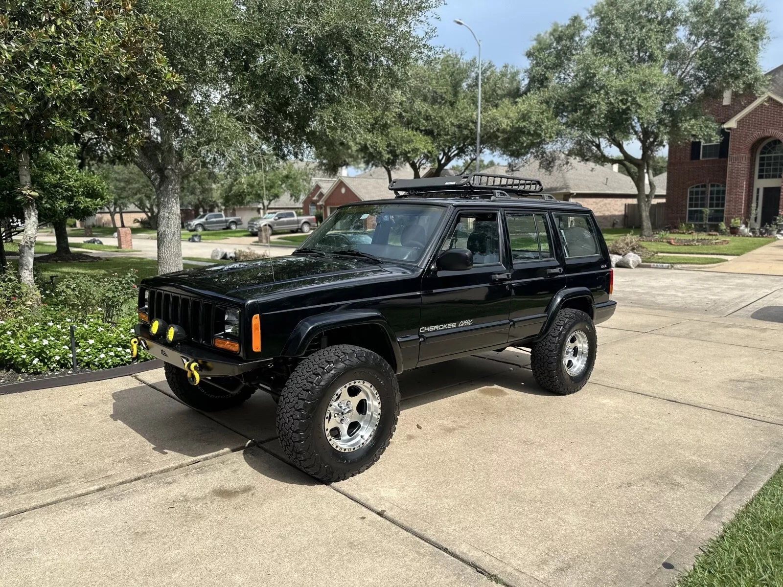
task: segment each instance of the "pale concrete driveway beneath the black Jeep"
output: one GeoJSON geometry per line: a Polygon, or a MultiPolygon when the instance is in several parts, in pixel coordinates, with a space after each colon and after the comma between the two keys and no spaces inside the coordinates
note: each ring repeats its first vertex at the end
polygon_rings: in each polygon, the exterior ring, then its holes
{"type": "Polygon", "coordinates": [[[400,377],[395,438],[330,486],[256,394],[162,371],[0,396],[4,585],[666,585],[783,462],[783,278],[619,270],[590,384],[504,351],[400,377]]]}

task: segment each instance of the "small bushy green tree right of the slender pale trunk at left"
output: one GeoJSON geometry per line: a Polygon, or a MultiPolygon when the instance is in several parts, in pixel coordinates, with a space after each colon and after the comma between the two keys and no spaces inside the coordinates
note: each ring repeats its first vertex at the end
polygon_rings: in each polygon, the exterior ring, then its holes
{"type": "Polygon", "coordinates": [[[106,182],[91,171],[80,170],[74,146],[56,147],[36,154],[32,162],[32,185],[39,196],[38,213],[54,227],[56,257],[70,255],[68,218],[84,220],[110,200],[106,182]]]}

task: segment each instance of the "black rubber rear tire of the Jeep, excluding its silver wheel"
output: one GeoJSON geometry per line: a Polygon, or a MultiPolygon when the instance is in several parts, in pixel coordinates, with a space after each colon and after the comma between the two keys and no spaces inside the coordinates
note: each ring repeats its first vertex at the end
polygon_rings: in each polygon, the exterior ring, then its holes
{"type": "Polygon", "coordinates": [[[581,310],[564,308],[557,312],[554,324],[542,340],[533,345],[530,362],[536,383],[553,394],[574,394],[582,389],[593,373],[597,351],[597,336],[593,320],[581,310]],[[586,368],[576,377],[568,375],[563,365],[563,348],[576,330],[582,330],[589,344],[586,368]]]}

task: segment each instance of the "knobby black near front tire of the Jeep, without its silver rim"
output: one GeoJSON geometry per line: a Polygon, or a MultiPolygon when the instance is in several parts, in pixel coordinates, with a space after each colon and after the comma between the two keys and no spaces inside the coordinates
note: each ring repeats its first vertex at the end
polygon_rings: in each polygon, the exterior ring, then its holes
{"type": "Polygon", "coordinates": [[[277,406],[277,434],[295,466],[321,481],[342,481],[381,458],[397,427],[399,385],[380,355],[337,344],[305,358],[291,373],[277,406]],[[354,452],[339,452],[327,440],[323,420],[332,394],[348,381],[363,379],[381,396],[381,419],[370,442],[354,452]]]}

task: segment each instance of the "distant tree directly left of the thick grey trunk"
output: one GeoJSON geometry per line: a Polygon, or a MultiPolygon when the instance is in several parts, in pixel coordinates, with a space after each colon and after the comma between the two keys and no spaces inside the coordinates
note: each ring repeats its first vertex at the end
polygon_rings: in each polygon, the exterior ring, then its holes
{"type": "Polygon", "coordinates": [[[119,211],[121,225],[124,226],[122,213],[133,205],[143,211],[150,221],[150,227],[157,227],[157,203],[155,190],[139,167],[122,164],[99,164],[96,167],[100,175],[108,185],[110,200],[106,205],[111,214],[111,222],[117,228],[114,214],[119,211]]]}

